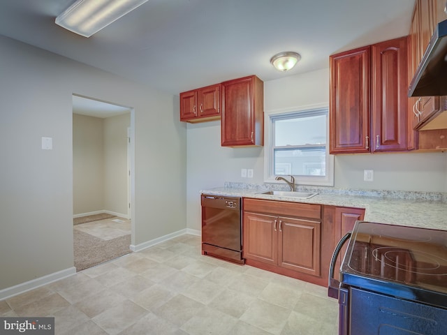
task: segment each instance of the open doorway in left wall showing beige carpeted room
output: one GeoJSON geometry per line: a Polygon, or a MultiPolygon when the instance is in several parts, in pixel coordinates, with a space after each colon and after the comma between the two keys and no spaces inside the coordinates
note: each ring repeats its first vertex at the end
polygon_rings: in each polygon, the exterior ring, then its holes
{"type": "Polygon", "coordinates": [[[131,253],[133,109],[73,95],[77,271],[131,253]]]}

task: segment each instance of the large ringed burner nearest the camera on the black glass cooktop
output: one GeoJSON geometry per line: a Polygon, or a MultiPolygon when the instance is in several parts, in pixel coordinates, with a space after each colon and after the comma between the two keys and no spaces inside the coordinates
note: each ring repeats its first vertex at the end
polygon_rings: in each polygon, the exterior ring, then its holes
{"type": "Polygon", "coordinates": [[[402,271],[427,276],[447,276],[447,260],[423,251],[382,246],[375,248],[372,255],[383,265],[402,271]]]}

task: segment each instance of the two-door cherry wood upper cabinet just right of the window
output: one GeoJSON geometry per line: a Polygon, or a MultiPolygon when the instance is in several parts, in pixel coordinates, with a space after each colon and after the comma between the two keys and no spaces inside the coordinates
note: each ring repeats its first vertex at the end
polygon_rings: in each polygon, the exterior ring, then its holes
{"type": "Polygon", "coordinates": [[[407,38],[330,57],[330,153],[401,151],[407,143],[407,38]]]}

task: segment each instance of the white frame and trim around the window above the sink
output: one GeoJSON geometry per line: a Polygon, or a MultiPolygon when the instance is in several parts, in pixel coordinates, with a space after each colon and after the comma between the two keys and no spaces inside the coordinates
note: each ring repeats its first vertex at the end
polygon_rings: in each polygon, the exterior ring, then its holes
{"type": "MultiPolygon", "coordinates": [[[[309,185],[309,186],[334,186],[334,155],[329,154],[329,107],[327,104],[319,105],[307,105],[301,107],[291,107],[281,110],[271,110],[264,114],[265,124],[265,138],[264,138],[264,182],[280,184],[283,181],[277,181],[273,174],[274,153],[272,142],[274,140],[274,134],[272,129],[272,119],[279,116],[287,117],[287,115],[294,115],[299,113],[318,112],[321,110],[327,110],[326,117],[326,175],[325,176],[298,176],[295,177],[296,185],[309,185]]],[[[279,175],[279,174],[278,174],[279,175]]]]}

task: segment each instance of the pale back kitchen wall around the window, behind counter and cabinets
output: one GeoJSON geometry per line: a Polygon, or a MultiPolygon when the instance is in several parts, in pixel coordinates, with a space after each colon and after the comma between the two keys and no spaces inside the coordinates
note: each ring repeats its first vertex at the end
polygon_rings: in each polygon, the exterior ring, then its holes
{"type": "MultiPolygon", "coordinates": [[[[262,78],[261,78],[262,79],[262,78]]],[[[317,70],[264,82],[264,110],[329,105],[329,70],[317,70]]],[[[263,148],[220,147],[220,121],[187,128],[187,225],[200,230],[200,189],[225,181],[263,184],[263,148]],[[240,177],[241,168],[254,178],[240,177]]],[[[402,191],[447,191],[444,153],[339,155],[335,157],[335,188],[402,191]],[[374,170],[374,181],[363,181],[363,170],[374,170]]]]}

